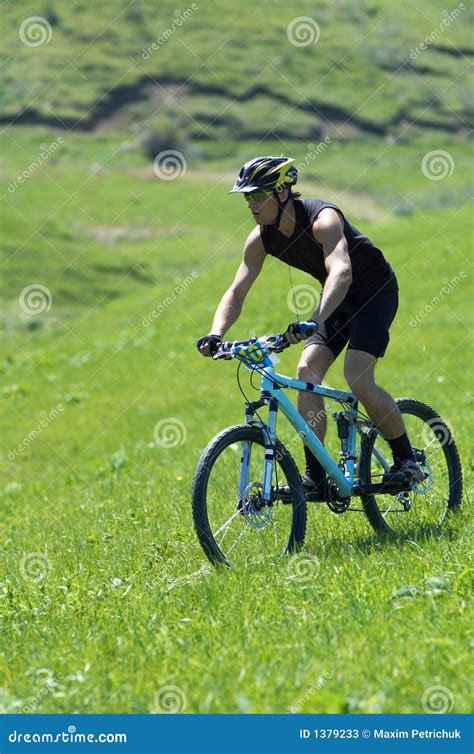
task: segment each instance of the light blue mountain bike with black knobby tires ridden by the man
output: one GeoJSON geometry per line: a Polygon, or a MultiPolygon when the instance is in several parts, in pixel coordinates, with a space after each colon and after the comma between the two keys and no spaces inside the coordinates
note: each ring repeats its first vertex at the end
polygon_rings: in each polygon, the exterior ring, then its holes
{"type": "MultiPolygon", "coordinates": [[[[311,335],[315,325],[300,322],[311,335]]],[[[384,484],[391,451],[383,435],[344,390],[292,379],[275,371],[277,353],[288,348],[285,333],[223,342],[215,360],[237,359],[260,376],[260,398],[246,401],[245,423],[228,427],[212,439],[196,467],[192,510],[202,548],[213,564],[244,565],[266,555],[298,551],[305,537],[306,494],[289,450],[277,436],[281,411],[296,441],[313,452],[326,469],[323,503],[331,511],[365,513],[377,532],[415,535],[441,524],[462,498],[462,469],[448,425],[436,411],[413,398],[398,398],[423,481],[384,484]],[[321,395],[338,404],[332,413],[341,444],[335,461],[298,413],[285,390],[321,395]],[[268,408],[265,421],[259,410],[268,408]],[[356,498],[359,506],[352,505],[356,498]]],[[[293,441],[292,441],[293,443],[293,441]]],[[[315,498],[315,501],[317,498],[315,498]]]]}

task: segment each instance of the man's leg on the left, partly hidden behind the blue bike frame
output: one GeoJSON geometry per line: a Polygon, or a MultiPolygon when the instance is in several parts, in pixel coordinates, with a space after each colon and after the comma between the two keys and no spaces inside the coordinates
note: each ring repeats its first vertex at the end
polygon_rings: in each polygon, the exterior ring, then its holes
{"type": "MultiPolygon", "coordinates": [[[[314,382],[321,384],[324,375],[334,362],[334,354],[327,346],[310,345],[304,349],[298,364],[298,379],[304,382],[314,382]]],[[[324,400],[320,395],[311,393],[301,393],[297,395],[297,407],[303,419],[309,424],[316,437],[324,441],[326,434],[326,410],[324,400]]],[[[312,479],[315,484],[322,482],[326,472],[309,448],[304,446],[306,458],[306,476],[312,479]]]]}

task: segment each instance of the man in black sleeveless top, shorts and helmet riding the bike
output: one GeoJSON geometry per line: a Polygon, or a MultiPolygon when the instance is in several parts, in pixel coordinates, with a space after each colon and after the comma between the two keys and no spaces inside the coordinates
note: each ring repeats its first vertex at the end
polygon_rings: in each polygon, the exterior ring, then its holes
{"type": "MultiPolygon", "coordinates": [[[[243,261],[222,297],[209,335],[198,341],[203,356],[211,356],[238,319],[244,299],[268,254],[304,270],[323,285],[311,319],[318,331],[306,338],[298,378],[320,384],[347,345],[344,375],[352,392],[389,443],[393,466],[383,481],[421,481],[400,411],[393,398],[374,379],[377,359],[388,345],[389,327],[398,307],[395,273],[380,249],[322,199],[300,200],[292,187],[298,171],[288,157],[257,157],[240,170],[229,193],[243,193],[256,227],[244,247],[243,261]]],[[[298,323],[288,326],[290,343],[303,340],[298,323]]],[[[323,442],[326,431],[324,401],[312,393],[298,393],[298,410],[323,442]]],[[[324,497],[325,470],[306,448],[308,491],[324,497]]]]}

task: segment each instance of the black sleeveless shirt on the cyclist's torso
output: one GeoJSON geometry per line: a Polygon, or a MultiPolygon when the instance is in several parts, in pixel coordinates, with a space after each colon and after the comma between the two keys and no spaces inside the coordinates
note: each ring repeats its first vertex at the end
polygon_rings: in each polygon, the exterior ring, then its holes
{"type": "Polygon", "coordinates": [[[312,226],[325,207],[337,210],[344,222],[344,236],[352,264],[352,283],[346,297],[358,297],[365,291],[382,287],[391,278],[395,279],[380,249],[346,220],[339,207],[322,199],[294,200],[295,229],[289,238],[272,225],[262,226],[260,235],[267,254],[308,272],[324,285],[328,273],[324,266],[323,247],[315,240],[312,226]]]}

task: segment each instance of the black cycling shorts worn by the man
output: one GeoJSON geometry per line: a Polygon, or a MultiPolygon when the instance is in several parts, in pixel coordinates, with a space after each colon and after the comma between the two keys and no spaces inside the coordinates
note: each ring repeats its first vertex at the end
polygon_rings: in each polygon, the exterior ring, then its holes
{"type": "Polygon", "coordinates": [[[304,347],[324,345],[337,358],[347,345],[377,358],[383,356],[390,340],[389,328],[398,309],[397,279],[382,284],[372,293],[352,296],[339,304],[316,335],[304,341],[304,347]]]}

